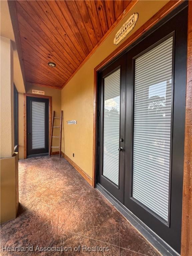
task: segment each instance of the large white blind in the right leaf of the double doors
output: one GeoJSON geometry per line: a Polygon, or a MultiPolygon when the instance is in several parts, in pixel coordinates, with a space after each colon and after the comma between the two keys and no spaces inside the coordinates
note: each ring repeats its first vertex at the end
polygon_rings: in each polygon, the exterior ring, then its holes
{"type": "Polygon", "coordinates": [[[172,106],[169,38],[135,60],[133,197],[168,221],[172,106]]]}

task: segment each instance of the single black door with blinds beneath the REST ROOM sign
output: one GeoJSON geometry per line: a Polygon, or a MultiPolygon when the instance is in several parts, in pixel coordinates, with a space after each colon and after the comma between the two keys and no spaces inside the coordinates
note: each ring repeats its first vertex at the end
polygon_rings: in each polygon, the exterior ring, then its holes
{"type": "Polygon", "coordinates": [[[27,96],[27,157],[49,152],[49,99],[27,96]]]}

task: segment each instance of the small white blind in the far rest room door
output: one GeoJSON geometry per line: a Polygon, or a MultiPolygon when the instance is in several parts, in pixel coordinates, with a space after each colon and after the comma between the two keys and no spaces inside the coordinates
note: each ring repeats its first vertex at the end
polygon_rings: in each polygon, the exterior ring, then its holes
{"type": "Polygon", "coordinates": [[[32,149],[45,148],[45,102],[31,102],[32,149]]]}

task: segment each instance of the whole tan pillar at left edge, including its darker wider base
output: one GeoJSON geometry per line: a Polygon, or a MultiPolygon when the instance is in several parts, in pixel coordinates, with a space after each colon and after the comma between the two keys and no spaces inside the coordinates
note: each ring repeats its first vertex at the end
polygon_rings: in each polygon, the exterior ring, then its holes
{"type": "Polygon", "coordinates": [[[17,215],[18,155],[14,154],[13,115],[13,47],[10,39],[1,37],[0,91],[0,222],[17,215]]]}

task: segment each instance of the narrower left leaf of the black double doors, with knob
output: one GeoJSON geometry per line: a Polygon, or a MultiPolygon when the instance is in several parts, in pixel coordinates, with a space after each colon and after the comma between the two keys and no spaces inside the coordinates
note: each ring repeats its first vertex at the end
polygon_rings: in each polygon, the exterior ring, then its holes
{"type": "Polygon", "coordinates": [[[100,73],[99,183],[123,202],[125,143],[125,56],[100,73]]]}

